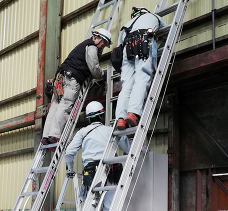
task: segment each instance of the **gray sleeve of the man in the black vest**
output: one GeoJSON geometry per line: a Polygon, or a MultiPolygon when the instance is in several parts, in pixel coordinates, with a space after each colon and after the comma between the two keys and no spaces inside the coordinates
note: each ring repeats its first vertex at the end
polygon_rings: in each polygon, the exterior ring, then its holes
{"type": "Polygon", "coordinates": [[[93,77],[101,79],[104,73],[99,65],[97,51],[98,49],[94,45],[86,46],[86,63],[93,77]]]}

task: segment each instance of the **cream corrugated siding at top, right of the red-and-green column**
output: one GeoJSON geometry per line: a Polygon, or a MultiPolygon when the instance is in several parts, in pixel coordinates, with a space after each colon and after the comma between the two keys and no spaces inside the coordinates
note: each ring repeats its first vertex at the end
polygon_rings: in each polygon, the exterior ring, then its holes
{"type": "MultiPolygon", "coordinates": [[[[167,5],[171,5],[178,0],[169,0],[167,5]]],[[[71,4],[69,1],[65,1],[67,3],[67,8],[78,7],[79,5],[74,3],[71,4]],[[76,6],[75,6],[76,5],[76,6]]],[[[228,0],[223,1],[215,1],[216,9],[224,7],[228,5],[228,0]]],[[[133,6],[145,6],[151,12],[153,12],[156,2],[151,1],[130,1],[124,0],[120,3],[119,14],[114,19],[113,26],[111,28],[113,45],[110,49],[105,48],[103,53],[107,53],[112,50],[117,45],[117,39],[119,35],[120,28],[130,19],[131,8],[133,6]]],[[[81,5],[81,4],[80,4],[81,5]]],[[[211,0],[191,0],[189,1],[189,7],[185,16],[185,21],[194,19],[198,16],[204,15],[206,13],[210,13],[212,9],[211,0]]],[[[103,10],[100,15],[100,20],[105,19],[111,11],[111,6],[106,10],[103,10]]],[[[91,24],[92,18],[94,15],[94,10],[89,11],[74,20],[71,20],[67,26],[63,29],[62,33],[62,60],[64,61],[68,53],[80,42],[82,42],[86,36],[87,30],[91,24]],[[74,36],[73,36],[74,35],[74,36]]],[[[166,23],[170,24],[173,20],[173,14],[164,17],[166,23]]],[[[216,38],[228,34],[227,27],[227,18],[220,18],[216,20],[216,38]]],[[[105,26],[101,26],[105,27],[105,26]]],[[[196,26],[193,29],[185,31],[181,36],[181,42],[178,46],[178,50],[182,50],[193,45],[198,45],[200,43],[209,41],[212,39],[212,22],[205,23],[201,26],[196,26]]]]}

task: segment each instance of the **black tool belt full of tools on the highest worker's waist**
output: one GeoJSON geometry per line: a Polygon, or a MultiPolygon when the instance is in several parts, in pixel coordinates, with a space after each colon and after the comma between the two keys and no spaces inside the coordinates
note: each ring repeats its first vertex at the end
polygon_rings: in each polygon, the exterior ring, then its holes
{"type": "Polygon", "coordinates": [[[126,52],[127,59],[148,59],[150,46],[149,39],[153,37],[155,33],[153,29],[139,29],[137,31],[129,33],[126,39],[126,52]]]}

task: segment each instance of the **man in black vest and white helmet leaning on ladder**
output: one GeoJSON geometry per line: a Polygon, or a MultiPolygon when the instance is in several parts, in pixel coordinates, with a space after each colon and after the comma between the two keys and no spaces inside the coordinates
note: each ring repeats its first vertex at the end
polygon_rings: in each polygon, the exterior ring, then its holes
{"type": "MultiPolygon", "coordinates": [[[[72,105],[78,97],[85,79],[91,75],[95,79],[106,79],[106,72],[100,68],[99,58],[104,47],[112,44],[111,34],[100,28],[92,32],[93,36],[77,45],[61,64],[56,80],[62,79],[63,95],[52,96],[51,107],[44,125],[42,143],[56,143],[67,122],[72,105]]],[[[55,151],[55,148],[50,148],[55,151]]]]}

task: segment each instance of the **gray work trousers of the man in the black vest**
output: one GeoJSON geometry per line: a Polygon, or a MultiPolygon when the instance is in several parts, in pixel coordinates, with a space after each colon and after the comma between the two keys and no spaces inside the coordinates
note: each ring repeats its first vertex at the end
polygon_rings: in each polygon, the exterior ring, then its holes
{"type": "Polygon", "coordinates": [[[63,97],[58,103],[54,94],[51,107],[45,121],[43,137],[50,136],[60,138],[63,128],[69,118],[72,104],[78,97],[80,84],[73,77],[63,77],[63,97]]]}

